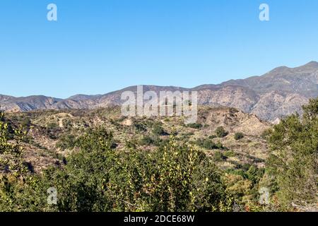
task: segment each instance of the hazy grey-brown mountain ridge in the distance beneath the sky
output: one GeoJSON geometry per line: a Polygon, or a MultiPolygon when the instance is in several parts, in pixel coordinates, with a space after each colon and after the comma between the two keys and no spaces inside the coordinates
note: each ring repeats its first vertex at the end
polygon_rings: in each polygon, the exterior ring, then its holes
{"type": "MultiPolygon", "coordinates": [[[[11,97],[0,95],[1,109],[9,112],[36,109],[95,109],[121,105],[122,92],[136,92],[136,86],[105,95],[74,95],[67,99],[45,96],[11,97]]],[[[318,62],[288,68],[281,66],[263,76],[230,80],[218,85],[200,85],[195,88],[144,85],[143,91],[196,90],[199,105],[225,106],[256,114],[273,121],[294,112],[300,112],[309,98],[318,96],[318,62]]]]}

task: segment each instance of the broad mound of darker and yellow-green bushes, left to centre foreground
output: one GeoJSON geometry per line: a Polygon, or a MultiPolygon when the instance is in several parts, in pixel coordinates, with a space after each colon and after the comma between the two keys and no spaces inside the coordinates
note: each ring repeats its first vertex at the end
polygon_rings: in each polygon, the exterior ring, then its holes
{"type": "MultiPolygon", "coordinates": [[[[91,136],[86,136],[83,141],[90,144],[91,136]]],[[[102,142],[71,155],[63,169],[45,170],[35,181],[33,189],[25,189],[20,210],[228,211],[232,205],[218,168],[173,137],[152,153],[132,148],[117,153],[102,142]],[[58,191],[55,206],[46,203],[49,187],[58,191]]]]}

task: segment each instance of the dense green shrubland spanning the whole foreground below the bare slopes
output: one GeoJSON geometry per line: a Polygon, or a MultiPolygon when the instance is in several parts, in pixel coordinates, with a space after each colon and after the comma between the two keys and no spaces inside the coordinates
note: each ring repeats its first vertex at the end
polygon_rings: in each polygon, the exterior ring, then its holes
{"type": "MultiPolygon", "coordinates": [[[[312,210],[317,204],[318,99],[304,114],[286,117],[263,135],[271,155],[266,167],[253,164],[220,169],[217,162],[235,157],[214,138],[179,141],[158,123],[136,122],[141,140],[127,138],[124,150],[109,129],[85,129],[78,136],[61,134],[57,146],[73,150],[58,165],[34,173],[23,160],[23,145],[31,122],[11,125],[0,114],[1,211],[267,211],[312,210]],[[148,128],[151,129],[148,129],[148,128]],[[25,132],[23,132],[25,131],[25,132]],[[143,145],[153,145],[144,150],[143,145]],[[204,150],[213,150],[208,156],[204,150]],[[57,190],[57,204],[47,203],[47,190],[57,190]],[[260,204],[259,191],[269,189],[260,204]]],[[[71,126],[71,123],[68,123],[71,126]]],[[[200,129],[199,124],[189,126],[200,129]]],[[[56,124],[45,128],[57,138],[56,124]]],[[[244,137],[236,133],[235,140],[244,137]]]]}

